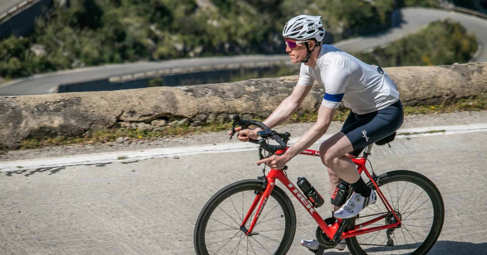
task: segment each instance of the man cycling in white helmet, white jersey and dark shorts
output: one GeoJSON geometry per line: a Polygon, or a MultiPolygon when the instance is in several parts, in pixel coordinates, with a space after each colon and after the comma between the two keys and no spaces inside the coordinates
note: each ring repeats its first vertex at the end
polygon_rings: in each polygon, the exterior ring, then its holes
{"type": "MultiPolygon", "coordinates": [[[[324,86],[325,94],[318,109],[318,119],[301,138],[281,155],[262,159],[269,167],[281,169],[293,157],[313,145],[323,136],[340,102],[351,109],[341,131],[319,147],[322,163],[327,167],[330,192],[339,180],[351,184],[352,196],[341,206],[332,205],[332,216],[350,219],[367,205],[375,203],[374,190],[369,188],[357,172],[350,157],[358,156],[363,148],[392,134],[403,122],[403,108],[399,92],[391,77],[380,67],[368,65],[332,45],[322,45],[325,30],[320,16],[300,15],[286,22],[282,36],[286,52],[293,63],[300,63],[300,78],[291,95],[263,123],[270,128],[284,122],[295,112],[315,81],[324,86]]],[[[236,128],[238,138],[257,139],[256,129],[236,128]]],[[[317,250],[318,240],[302,240],[301,244],[317,250]]],[[[345,244],[335,248],[344,249],[345,244]]]]}

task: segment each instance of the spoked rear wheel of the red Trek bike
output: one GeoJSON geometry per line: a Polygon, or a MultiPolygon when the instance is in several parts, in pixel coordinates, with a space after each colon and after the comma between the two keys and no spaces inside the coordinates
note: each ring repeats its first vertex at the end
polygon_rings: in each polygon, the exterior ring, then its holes
{"type": "MultiPolygon", "coordinates": [[[[427,254],[440,236],[445,218],[440,191],[424,175],[407,170],[387,172],[380,175],[379,180],[379,188],[401,219],[401,226],[347,238],[349,251],[353,255],[427,254]]],[[[372,182],[368,185],[375,190],[372,182]]],[[[360,212],[359,218],[352,220],[350,226],[353,228],[374,218],[368,215],[386,212],[377,197],[375,204],[360,212]]],[[[367,227],[391,224],[394,220],[386,217],[367,227]]]]}

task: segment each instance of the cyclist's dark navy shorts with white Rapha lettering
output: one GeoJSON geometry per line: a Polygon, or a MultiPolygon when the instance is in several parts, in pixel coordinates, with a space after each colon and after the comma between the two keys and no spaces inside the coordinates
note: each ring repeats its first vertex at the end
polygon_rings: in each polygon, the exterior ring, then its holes
{"type": "Polygon", "coordinates": [[[350,111],[341,131],[348,137],[354,147],[355,156],[362,148],[375,143],[399,129],[404,119],[401,101],[366,114],[350,111]],[[357,152],[358,151],[358,152],[357,152]]]}

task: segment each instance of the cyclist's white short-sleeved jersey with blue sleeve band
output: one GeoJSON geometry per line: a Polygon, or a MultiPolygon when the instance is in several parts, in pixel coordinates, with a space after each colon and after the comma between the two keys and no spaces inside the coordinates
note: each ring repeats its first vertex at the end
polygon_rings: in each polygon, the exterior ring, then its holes
{"type": "Polygon", "coordinates": [[[399,100],[397,86],[385,71],[332,45],[321,46],[315,68],[301,63],[298,85],[310,86],[315,80],[325,86],[321,104],[330,108],[343,101],[353,112],[366,114],[399,100]]]}

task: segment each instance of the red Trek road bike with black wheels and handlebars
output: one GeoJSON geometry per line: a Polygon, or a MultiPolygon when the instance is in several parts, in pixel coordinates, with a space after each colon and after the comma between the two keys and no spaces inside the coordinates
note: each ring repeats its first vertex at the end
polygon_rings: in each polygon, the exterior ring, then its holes
{"type": "MultiPolygon", "coordinates": [[[[242,120],[235,115],[235,126],[261,127],[262,137],[250,142],[262,150],[281,154],[288,147],[289,133],[277,133],[255,120],[242,120]],[[273,139],[279,145],[269,145],[273,139]]],[[[396,170],[381,175],[365,167],[372,145],[362,157],[352,159],[360,174],[365,173],[379,198],[354,219],[323,219],[307,198],[287,178],[285,170],[270,169],[257,180],[232,183],[208,200],[196,221],[194,246],[197,255],[273,254],[289,251],[296,232],[296,212],[287,194],[276,184],[279,180],[318,224],[316,238],[320,243],[315,254],[345,241],[353,255],[427,254],[438,239],[445,215],[443,199],[427,177],[412,171],[396,170]],[[265,207],[265,210],[264,210],[265,207]]],[[[303,155],[318,156],[307,149],[303,155]]],[[[349,196],[352,194],[350,188],[349,196]]]]}

